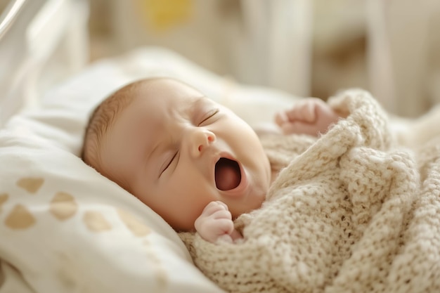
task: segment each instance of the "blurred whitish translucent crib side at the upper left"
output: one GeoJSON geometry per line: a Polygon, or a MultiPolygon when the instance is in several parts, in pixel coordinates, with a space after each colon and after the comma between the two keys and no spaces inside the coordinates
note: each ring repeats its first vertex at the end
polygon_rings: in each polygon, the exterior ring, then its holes
{"type": "MultiPolygon", "coordinates": [[[[4,2],[2,2],[4,3],[4,2]]],[[[0,128],[87,60],[88,0],[8,0],[0,15],[0,128]]]]}

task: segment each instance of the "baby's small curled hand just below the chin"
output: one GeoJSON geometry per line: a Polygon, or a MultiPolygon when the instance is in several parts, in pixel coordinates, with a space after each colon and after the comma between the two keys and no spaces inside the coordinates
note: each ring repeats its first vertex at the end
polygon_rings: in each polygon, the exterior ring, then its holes
{"type": "Polygon", "coordinates": [[[195,230],[200,236],[212,243],[218,240],[234,242],[242,238],[235,230],[231,212],[223,202],[209,202],[202,214],[195,220],[195,230]]]}

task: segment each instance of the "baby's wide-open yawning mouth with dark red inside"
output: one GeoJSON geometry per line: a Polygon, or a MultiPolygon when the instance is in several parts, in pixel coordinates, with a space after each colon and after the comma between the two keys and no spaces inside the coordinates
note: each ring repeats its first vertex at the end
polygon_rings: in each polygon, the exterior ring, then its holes
{"type": "Polygon", "coordinates": [[[231,190],[240,185],[241,171],[238,162],[221,157],[215,164],[215,184],[219,190],[231,190]]]}

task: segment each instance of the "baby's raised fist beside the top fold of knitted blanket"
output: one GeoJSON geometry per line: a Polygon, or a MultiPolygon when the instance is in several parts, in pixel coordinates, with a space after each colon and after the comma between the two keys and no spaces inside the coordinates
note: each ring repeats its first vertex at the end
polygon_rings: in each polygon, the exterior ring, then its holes
{"type": "Polygon", "coordinates": [[[334,124],[339,116],[330,106],[319,98],[304,98],[283,112],[278,112],[275,122],[284,134],[325,134],[328,126],[334,124]]]}

